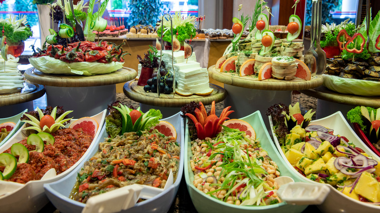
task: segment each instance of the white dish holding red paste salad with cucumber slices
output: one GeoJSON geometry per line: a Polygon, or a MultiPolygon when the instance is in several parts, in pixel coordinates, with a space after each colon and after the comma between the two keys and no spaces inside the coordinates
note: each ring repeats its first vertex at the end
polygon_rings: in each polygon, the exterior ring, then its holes
{"type": "MultiPolygon", "coordinates": [[[[70,114],[69,114],[70,115],[70,114]]],[[[38,212],[43,206],[48,202],[48,198],[46,197],[43,189],[44,183],[54,182],[62,177],[68,175],[71,171],[73,171],[76,166],[78,166],[82,160],[84,160],[88,155],[90,150],[93,147],[96,147],[95,142],[99,136],[100,130],[102,129],[104,118],[106,115],[106,110],[92,116],[97,123],[99,124],[99,128],[94,137],[94,141],[91,143],[88,150],[85,154],[68,170],[65,172],[56,175],[55,171],[53,174],[49,173],[49,170],[44,177],[40,180],[32,180],[27,182],[26,184],[16,183],[16,182],[8,182],[0,180],[0,209],[1,212],[6,213],[20,213],[20,212],[38,212]],[[49,173],[49,174],[48,174],[49,173]]],[[[73,119],[75,121],[76,119],[73,119]]],[[[25,124],[24,124],[25,125],[25,124]]],[[[24,135],[24,125],[17,131],[17,133],[8,140],[4,145],[0,147],[0,153],[7,150],[12,144],[23,140],[26,135],[24,135]]]]}

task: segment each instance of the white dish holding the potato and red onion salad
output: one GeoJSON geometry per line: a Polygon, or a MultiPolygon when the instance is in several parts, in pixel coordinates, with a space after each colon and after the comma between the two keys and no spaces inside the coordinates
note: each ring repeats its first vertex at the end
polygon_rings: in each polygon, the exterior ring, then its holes
{"type": "MultiPolygon", "coordinates": [[[[270,117],[269,117],[269,123],[270,123],[271,129],[273,129],[272,128],[273,124],[270,117]]],[[[318,124],[318,125],[325,126],[329,129],[334,129],[335,135],[339,134],[346,137],[350,142],[355,144],[355,146],[361,148],[369,156],[372,156],[373,159],[380,161],[380,157],[378,157],[374,152],[372,152],[372,150],[368,148],[368,146],[366,146],[363,142],[361,142],[360,138],[351,129],[349,124],[347,124],[346,120],[344,119],[340,111],[330,116],[327,116],[325,118],[311,121],[310,124],[318,124]]],[[[272,130],[272,135],[274,136],[273,130],[272,130]]],[[[297,172],[297,170],[293,168],[293,166],[289,163],[289,161],[286,160],[285,153],[282,151],[280,143],[278,142],[277,138],[276,137],[273,137],[273,138],[274,138],[274,142],[276,144],[278,151],[280,152],[283,159],[285,159],[287,167],[293,171],[294,175],[302,178],[306,182],[315,183],[315,184],[323,184],[323,183],[317,183],[315,181],[312,181],[304,177],[303,175],[301,175],[299,172],[297,172]]],[[[337,212],[373,213],[373,212],[380,211],[380,206],[363,203],[361,201],[358,201],[351,197],[343,195],[341,192],[339,192],[337,189],[332,187],[330,184],[324,184],[324,185],[327,185],[330,187],[330,193],[327,195],[323,204],[318,205],[318,208],[323,213],[337,213],[337,212]]]]}

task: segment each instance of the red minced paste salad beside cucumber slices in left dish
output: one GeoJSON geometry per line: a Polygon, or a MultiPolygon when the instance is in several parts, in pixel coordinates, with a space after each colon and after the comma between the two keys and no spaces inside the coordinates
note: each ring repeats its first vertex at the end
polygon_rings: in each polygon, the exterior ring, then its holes
{"type": "MultiPolygon", "coordinates": [[[[72,128],[58,129],[52,136],[54,144],[45,144],[42,152],[35,151],[36,145],[27,144],[27,139],[20,141],[29,151],[29,162],[19,163],[15,173],[4,180],[18,183],[39,180],[51,168],[55,168],[58,175],[73,166],[94,140],[93,136],[72,128]]],[[[4,153],[11,154],[11,148],[4,153]]],[[[4,168],[0,166],[0,171],[4,168]]]]}

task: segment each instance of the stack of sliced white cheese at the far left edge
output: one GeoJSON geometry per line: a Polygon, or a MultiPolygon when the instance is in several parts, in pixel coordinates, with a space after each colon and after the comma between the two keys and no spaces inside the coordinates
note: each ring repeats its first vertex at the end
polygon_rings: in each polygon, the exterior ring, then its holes
{"type": "Polygon", "coordinates": [[[5,61],[0,56],[0,94],[10,94],[21,91],[24,88],[24,77],[19,72],[19,58],[13,55],[7,55],[8,60],[5,61]]]}

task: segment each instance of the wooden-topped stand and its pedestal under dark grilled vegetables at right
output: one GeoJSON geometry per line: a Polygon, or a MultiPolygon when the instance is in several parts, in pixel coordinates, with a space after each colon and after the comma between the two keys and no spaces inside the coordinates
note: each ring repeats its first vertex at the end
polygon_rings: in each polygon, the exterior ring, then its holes
{"type": "MultiPolygon", "coordinates": [[[[366,97],[352,94],[342,94],[332,91],[323,86],[314,89],[304,89],[300,92],[317,98],[316,118],[323,118],[337,111],[341,111],[345,116],[349,110],[355,106],[380,107],[380,96],[366,97]]],[[[348,122],[351,124],[350,122],[348,122]]]]}

